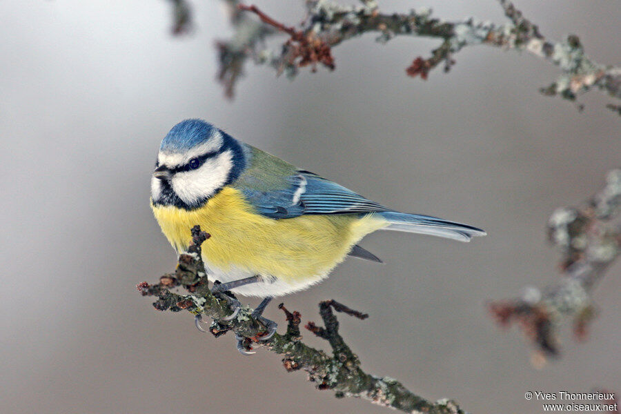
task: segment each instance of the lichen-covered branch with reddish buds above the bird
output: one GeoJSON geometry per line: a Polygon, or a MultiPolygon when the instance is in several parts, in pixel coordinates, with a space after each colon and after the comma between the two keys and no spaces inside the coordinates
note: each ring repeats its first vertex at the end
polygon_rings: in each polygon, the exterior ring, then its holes
{"type": "MultiPolygon", "coordinates": [[[[362,0],[358,6],[342,6],[331,0],[305,0],[307,15],[298,29],[277,22],[256,6],[244,6],[238,0],[222,1],[235,30],[231,39],[217,43],[218,77],[228,96],[233,95],[247,59],[266,64],[290,78],[304,66],[316,70],[317,65],[323,65],[332,70],[335,63],[331,48],[366,32],[377,32],[380,34],[377,41],[381,43],[400,35],[440,39],[440,46],[431,51],[431,56],[416,57],[406,68],[410,77],[426,79],[437,66],[448,72],[455,64],[453,57],[462,48],[484,44],[504,50],[524,50],[557,66],[561,75],[541,88],[544,95],[558,95],[574,101],[578,95],[597,87],[621,99],[620,67],[604,66],[590,59],[575,35],[565,41],[546,39],[538,27],[507,0],[499,2],[511,23],[502,25],[473,18],[443,21],[432,18],[431,10],[426,8],[384,14],[375,0],[362,0]],[[259,21],[245,12],[257,14],[259,21]],[[265,39],[278,33],[287,34],[289,39],[277,50],[270,50],[265,39]]],[[[618,106],[609,108],[616,110],[618,106]]]]}

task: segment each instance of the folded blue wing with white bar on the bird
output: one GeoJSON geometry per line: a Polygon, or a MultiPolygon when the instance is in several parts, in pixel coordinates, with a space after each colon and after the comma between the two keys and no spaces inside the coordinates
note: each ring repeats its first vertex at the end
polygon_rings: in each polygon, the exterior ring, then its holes
{"type": "Polygon", "coordinates": [[[288,219],[303,214],[347,214],[388,211],[333,181],[312,172],[298,171],[286,179],[288,186],[279,190],[258,191],[244,188],[246,198],[257,211],[274,219],[288,219]]]}

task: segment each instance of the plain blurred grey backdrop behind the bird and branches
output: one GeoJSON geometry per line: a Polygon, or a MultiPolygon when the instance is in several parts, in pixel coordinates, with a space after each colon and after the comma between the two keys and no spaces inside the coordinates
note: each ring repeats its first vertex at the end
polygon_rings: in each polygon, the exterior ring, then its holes
{"type": "MultiPolygon", "coordinates": [[[[259,1],[295,23],[298,1],[259,1]]],[[[447,19],[503,21],[492,0],[382,1],[431,6],[447,19]]],[[[526,391],[621,392],[620,266],[596,291],[587,342],[541,371],[516,328],[484,304],[558,278],[547,217],[598,190],[620,164],[619,118],[593,92],[571,103],[538,95],[554,79],[529,55],[479,47],[449,75],[408,79],[435,41],[373,35],[334,50],[335,72],[294,82],[248,68],[237,99],[215,83],[215,39],[230,30],[215,1],[195,1],[192,37],[170,36],[165,1],[0,2],[0,412],[382,413],[319,392],[279,357],[237,353],[186,313],[158,313],[135,284],[175,266],[148,205],[159,140],[202,117],[235,137],[393,208],[482,226],[471,244],[377,233],[363,245],[386,264],[348,260],[284,298],[305,321],[335,298],[367,311],[342,332],[377,375],[473,413],[540,413],[526,391]]],[[[619,64],[619,2],[517,4],[542,32],[580,35],[619,64]]],[[[250,300],[250,303],[256,299],[250,300]]],[[[278,321],[275,306],[267,316],[278,321]]],[[[566,329],[567,331],[568,329],[566,329]]],[[[325,346],[312,335],[311,344],[325,346]]]]}

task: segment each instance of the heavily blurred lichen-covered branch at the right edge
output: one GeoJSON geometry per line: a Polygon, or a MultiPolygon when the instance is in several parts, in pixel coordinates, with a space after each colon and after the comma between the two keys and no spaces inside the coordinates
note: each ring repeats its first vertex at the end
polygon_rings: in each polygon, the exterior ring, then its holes
{"type": "Polygon", "coordinates": [[[580,208],[556,210],[548,221],[549,239],[562,252],[563,278],[540,292],[529,287],[522,297],[492,302],[500,324],[519,322],[543,355],[559,353],[558,330],[573,319],[573,333],[586,337],[595,317],[593,287],[621,253],[621,169],[612,170],[606,186],[580,208]]]}

